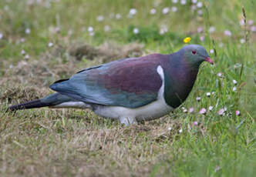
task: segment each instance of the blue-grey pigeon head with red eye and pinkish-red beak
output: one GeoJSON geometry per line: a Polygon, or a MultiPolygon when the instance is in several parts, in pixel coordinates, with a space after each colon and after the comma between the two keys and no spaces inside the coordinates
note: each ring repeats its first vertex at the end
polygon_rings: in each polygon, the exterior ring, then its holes
{"type": "Polygon", "coordinates": [[[181,48],[181,51],[184,53],[185,62],[190,65],[199,67],[202,62],[214,64],[206,49],[201,45],[186,45],[181,48]]]}

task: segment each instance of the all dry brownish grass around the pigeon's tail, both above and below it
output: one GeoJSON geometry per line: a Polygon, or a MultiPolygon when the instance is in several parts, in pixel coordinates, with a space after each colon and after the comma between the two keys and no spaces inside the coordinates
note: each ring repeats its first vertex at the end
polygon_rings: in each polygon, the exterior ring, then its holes
{"type": "Polygon", "coordinates": [[[99,48],[76,44],[75,48],[70,50],[69,65],[63,64],[60,58],[61,52],[69,49],[56,47],[39,60],[23,60],[5,71],[0,81],[3,89],[0,96],[2,174],[11,176],[15,172],[19,176],[140,176],[148,172],[154,162],[152,154],[163,149],[156,145],[141,146],[141,141],[156,141],[160,136],[160,127],[136,125],[123,128],[118,122],[98,118],[93,112],[74,109],[5,112],[7,105],[39,99],[49,94],[49,82],[63,75],[71,76],[76,73],[77,65],[86,67],[120,56],[129,57],[142,53],[142,45],[135,43],[123,48],[113,43],[105,43],[99,48]],[[94,61],[85,63],[77,56],[74,58],[74,51],[76,55],[81,53],[94,61]],[[52,58],[58,63],[53,65],[52,58]],[[145,168],[141,168],[144,165],[145,168]]]}

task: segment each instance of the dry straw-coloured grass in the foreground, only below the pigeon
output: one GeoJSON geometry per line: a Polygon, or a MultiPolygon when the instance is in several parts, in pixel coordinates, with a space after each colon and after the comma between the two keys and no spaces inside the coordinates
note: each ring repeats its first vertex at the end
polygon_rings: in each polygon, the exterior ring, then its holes
{"type": "Polygon", "coordinates": [[[171,149],[171,139],[180,129],[179,122],[168,119],[122,127],[91,112],[74,110],[14,114],[6,113],[0,121],[5,175],[145,175],[162,152],[171,149]]]}

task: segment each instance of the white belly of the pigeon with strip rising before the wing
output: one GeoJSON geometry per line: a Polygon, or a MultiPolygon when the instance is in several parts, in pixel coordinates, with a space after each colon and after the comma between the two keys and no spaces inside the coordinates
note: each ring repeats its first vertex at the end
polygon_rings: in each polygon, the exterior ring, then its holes
{"type": "Polygon", "coordinates": [[[173,108],[170,105],[167,105],[163,97],[164,75],[163,68],[160,65],[157,67],[157,73],[162,79],[162,85],[159,89],[157,100],[155,102],[151,102],[148,105],[144,105],[136,109],[129,109],[121,106],[100,105],[96,110],[94,110],[94,112],[106,118],[118,119],[120,117],[129,117],[135,118],[137,121],[157,119],[163,115],[167,115],[167,113],[172,111],[173,108]]]}

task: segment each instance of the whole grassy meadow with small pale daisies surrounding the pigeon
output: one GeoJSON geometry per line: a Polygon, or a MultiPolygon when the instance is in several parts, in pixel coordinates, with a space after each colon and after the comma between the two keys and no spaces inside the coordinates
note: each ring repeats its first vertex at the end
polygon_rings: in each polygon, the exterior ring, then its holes
{"type": "Polygon", "coordinates": [[[1,0],[1,176],[255,176],[254,0],[1,0]],[[117,58],[204,45],[184,105],[124,127],[75,109],[6,112],[117,58]]]}

